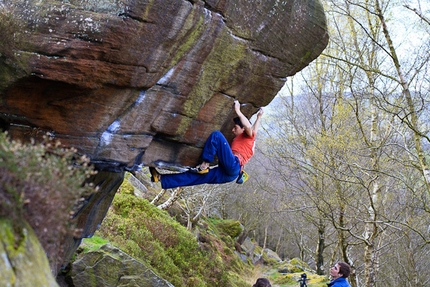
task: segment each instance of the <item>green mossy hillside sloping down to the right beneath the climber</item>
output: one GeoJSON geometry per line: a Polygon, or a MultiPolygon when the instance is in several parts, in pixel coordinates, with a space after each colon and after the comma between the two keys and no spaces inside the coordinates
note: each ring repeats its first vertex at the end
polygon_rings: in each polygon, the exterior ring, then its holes
{"type": "MultiPolygon", "coordinates": [[[[133,195],[125,180],[100,229],[78,251],[85,253],[110,242],[177,287],[249,287],[261,276],[274,286],[298,286],[304,272],[310,287],[328,282],[298,259],[279,263],[264,255],[257,266],[250,260],[243,262],[234,246],[241,232],[240,222],[217,218],[203,218],[190,232],[166,211],[133,195]]],[[[262,253],[261,247],[255,252],[262,253]]]]}

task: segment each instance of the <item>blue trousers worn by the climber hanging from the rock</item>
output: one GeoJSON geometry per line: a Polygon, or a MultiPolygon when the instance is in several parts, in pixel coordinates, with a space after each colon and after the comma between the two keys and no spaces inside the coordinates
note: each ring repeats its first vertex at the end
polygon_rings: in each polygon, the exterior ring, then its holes
{"type": "Polygon", "coordinates": [[[214,131],[208,137],[201,158],[205,162],[213,162],[215,155],[218,157],[218,167],[210,169],[208,173],[163,174],[161,187],[168,189],[204,183],[219,184],[235,180],[240,173],[240,162],[232,153],[229,143],[220,131],[214,131]]]}

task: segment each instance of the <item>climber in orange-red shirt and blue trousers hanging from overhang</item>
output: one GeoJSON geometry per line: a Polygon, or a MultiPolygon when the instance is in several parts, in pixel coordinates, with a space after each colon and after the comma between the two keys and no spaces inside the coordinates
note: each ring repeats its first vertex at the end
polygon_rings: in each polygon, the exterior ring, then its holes
{"type": "Polygon", "coordinates": [[[242,114],[240,103],[237,100],[234,101],[234,110],[237,117],[233,119],[234,127],[232,131],[235,137],[231,147],[220,131],[214,131],[206,140],[200,165],[189,169],[187,172],[176,174],[160,174],[154,167],[150,167],[151,181],[161,182],[161,187],[168,189],[204,183],[226,183],[237,179],[239,174],[241,178],[238,181],[246,180],[246,178],[242,179],[243,166],[254,154],[255,137],[260,126],[263,109],[258,111],[257,119],[253,125],[242,114]],[[215,159],[215,155],[218,157],[218,166],[209,168],[210,163],[215,159]]]}

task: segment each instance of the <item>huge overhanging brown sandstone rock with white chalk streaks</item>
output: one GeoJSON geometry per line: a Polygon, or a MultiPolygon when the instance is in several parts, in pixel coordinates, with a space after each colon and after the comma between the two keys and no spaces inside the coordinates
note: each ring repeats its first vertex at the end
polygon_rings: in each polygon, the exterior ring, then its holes
{"type": "Polygon", "coordinates": [[[1,32],[2,126],[114,171],[194,165],[234,99],[250,116],[328,42],[318,0],[4,3],[19,30],[1,32]]]}

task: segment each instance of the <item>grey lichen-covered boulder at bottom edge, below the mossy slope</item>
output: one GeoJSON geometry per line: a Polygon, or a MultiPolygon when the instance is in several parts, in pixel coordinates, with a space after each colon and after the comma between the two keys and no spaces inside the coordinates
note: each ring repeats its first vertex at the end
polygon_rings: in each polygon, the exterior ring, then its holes
{"type": "Polygon", "coordinates": [[[174,287],[148,267],[109,244],[76,260],[69,272],[73,286],[174,287]]]}

